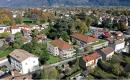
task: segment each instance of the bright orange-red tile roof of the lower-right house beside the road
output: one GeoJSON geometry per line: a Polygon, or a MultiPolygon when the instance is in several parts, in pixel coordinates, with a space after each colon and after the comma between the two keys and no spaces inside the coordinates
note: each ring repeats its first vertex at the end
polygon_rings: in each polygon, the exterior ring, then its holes
{"type": "Polygon", "coordinates": [[[100,55],[97,52],[94,52],[94,53],[92,53],[90,55],[83,56],[83,60],[85,62],[88,62],[88,61],[91,61],[91,60],[95,60],[95,59],[97,59],[99,57],[100,57],[100,55]]]}

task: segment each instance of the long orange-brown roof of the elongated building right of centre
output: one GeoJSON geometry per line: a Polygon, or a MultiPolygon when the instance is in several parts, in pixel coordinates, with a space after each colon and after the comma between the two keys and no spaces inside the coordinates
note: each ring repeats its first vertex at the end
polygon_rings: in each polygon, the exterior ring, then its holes
{"type": "Polygon", "coordinates": [[[74,33],[73,35],[71,35],[71,37],[78,39],[80,41],[83,41],[85,43],[90,43],[90,42],[97,40],[95,37],[83,35],[83,34],[80,34],[80,33],[74,33]]]}

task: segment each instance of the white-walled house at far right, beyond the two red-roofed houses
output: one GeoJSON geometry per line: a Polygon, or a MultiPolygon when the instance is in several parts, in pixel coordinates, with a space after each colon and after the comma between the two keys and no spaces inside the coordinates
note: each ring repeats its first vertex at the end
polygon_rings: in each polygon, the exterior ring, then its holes
{"type": "Polygon", "coordinates": [[[115,41],[115,44],[114,44],[115,52],[121,51],[124,48],[125,48],[125,41],[121,41],[121,40],[115,41]]]}

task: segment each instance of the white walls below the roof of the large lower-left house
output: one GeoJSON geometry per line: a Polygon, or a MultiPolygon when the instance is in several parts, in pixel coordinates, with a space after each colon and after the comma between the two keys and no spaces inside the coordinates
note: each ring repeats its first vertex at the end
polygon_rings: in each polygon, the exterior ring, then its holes
{"type": "Polygon", "coordinates": [[[27,74],[39,68],[39,61],[37,57],[30,57],[22,62],[19,62],[14,58],[10,58],[10,60],[11,66],[18,70],[21,74],[27,74]]]}

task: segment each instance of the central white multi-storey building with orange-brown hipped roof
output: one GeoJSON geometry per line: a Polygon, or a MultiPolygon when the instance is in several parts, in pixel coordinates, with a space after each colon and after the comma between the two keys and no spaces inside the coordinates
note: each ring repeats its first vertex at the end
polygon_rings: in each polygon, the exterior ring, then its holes
{"type": "Polygon", "coordinates": [[[75,50],[67,42],[56,39],[47,44],[48,51],[50,51],[54,56],[60,56],[61,58],[69,58],[75,55],[75,50]]]}

